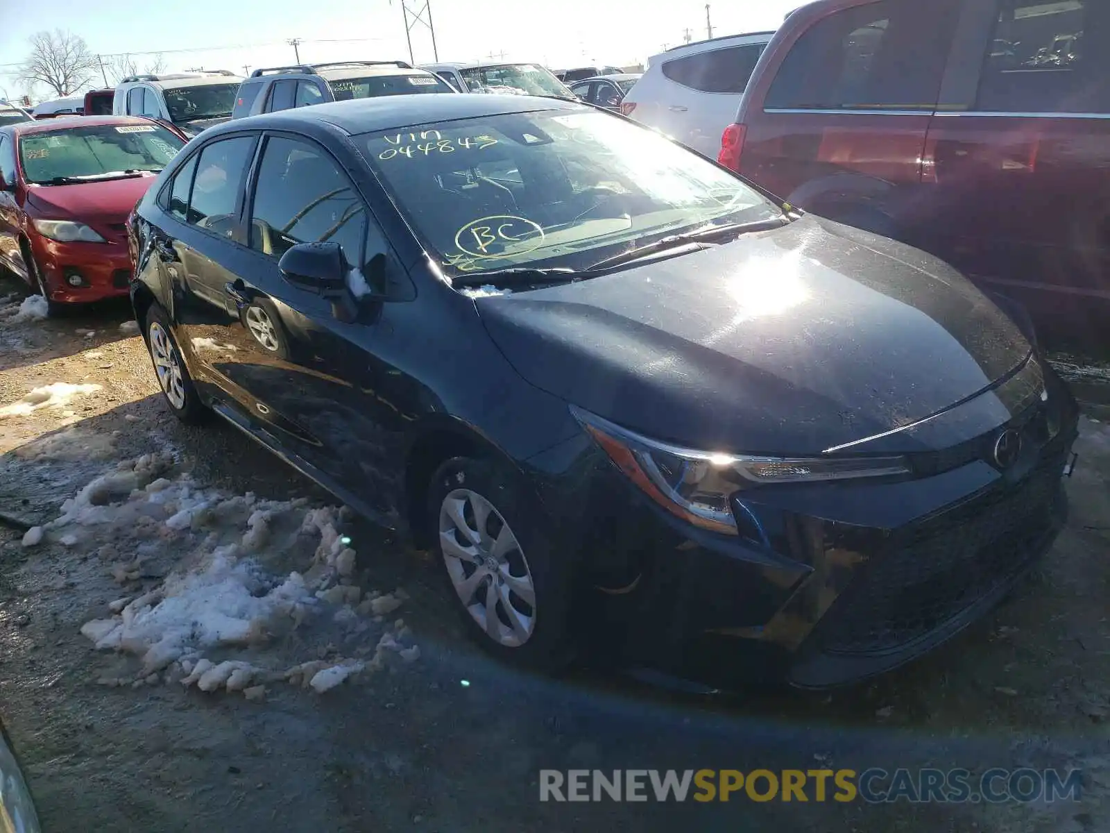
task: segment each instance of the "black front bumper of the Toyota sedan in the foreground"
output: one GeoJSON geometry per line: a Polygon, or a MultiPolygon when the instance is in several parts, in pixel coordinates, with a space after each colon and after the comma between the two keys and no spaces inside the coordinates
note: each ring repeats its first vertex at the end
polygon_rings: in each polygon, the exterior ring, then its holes
{"type": "Polygon", "coordinates": [[[568,544],[594,585],[584,619],[616,636],[613,661],[719,688],[830,688],[920,656],[1003,598],[1064,523],[1077,413],[1048,382],[1053,428],[1026,398],[1006,422],[1028,435],[1011,466],[977,451],[996,423],[937,452],[924,476],[744,492],[751,523],[739,538],[682,523],[599,452],[586,465],[579,451],[575,476],[543,496],[573,506],[558,521],[581,530],[568,544]]]}

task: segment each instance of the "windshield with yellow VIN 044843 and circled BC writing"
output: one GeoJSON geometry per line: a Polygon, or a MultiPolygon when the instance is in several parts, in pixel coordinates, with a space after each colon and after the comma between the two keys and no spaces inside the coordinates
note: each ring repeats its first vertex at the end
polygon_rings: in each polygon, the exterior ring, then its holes
{"type": "Polygon", "coordinates": [[[444,121],[363,141],[447,274],[582,269],[632,244],[781,214],[708,160],[594,110],[444,121]]]}

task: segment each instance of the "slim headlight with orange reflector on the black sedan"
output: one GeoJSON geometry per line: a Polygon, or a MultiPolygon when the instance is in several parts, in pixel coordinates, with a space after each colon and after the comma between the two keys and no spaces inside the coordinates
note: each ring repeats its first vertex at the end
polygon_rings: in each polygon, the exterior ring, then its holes
{"type": "Polygon", "coordinates": [[[744,489],[907,474],[900,456],[774,458],[696,451],[649,440],[581,408],[571,412],[647,496],[695,526],[737,534],[729,503],[744,489]]]}

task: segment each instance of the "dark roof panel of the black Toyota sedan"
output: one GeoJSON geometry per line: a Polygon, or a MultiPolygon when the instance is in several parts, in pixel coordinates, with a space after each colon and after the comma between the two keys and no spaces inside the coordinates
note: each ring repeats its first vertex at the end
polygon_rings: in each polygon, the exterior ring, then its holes
{"type": "Polygon", "coordinates": [[[333,124],[349,136],[357,136],[376,130],[427,124],[434,121],[526,113],[537,110],[593,112],[594,108],[567,99],[537,96],[386,96],[352,99],[351,101],[332,101],[262,116],[250,116],[245,119],[236,119],[226,124],[209,128],[205,134],[233,132],[252,127],[256,129],[289,129],[294,124],[322,121],[333,124]]]}

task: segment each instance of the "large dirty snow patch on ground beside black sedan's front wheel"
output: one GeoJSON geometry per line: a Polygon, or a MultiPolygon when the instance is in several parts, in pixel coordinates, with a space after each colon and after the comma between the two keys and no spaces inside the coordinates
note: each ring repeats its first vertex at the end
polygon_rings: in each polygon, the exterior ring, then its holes
{"type": "Polygon", "coordinates": [[[129,592],[81,628],[97,650],[130,658],[122,675],[102,676],[102,684],[181,682],[261,700],[279,681],[323,693],[389,662],[416,660],[402,620],[370,633],[404,592],[363,593],[355,552],[340,531],[346,511],[306,503],[205,489],[175,473],[172,455],[144,454],[87,483],[56,520],[28,531],[23,545],[99,544],[101,560],[113,562],[107,569],[129,592]],[[287,570],[291,561],[300,569],[287,570]],[[269,650],[317,624],[340,634],[350,655],[334,649],[289,668],[269,650]]]}

